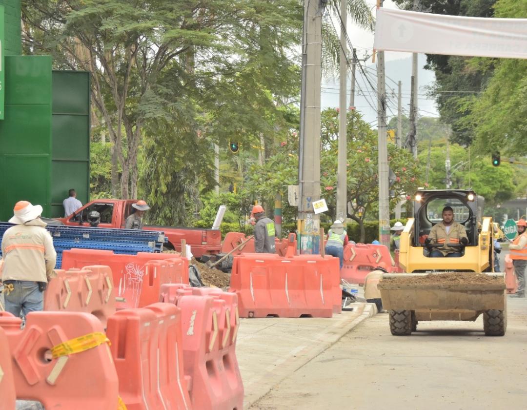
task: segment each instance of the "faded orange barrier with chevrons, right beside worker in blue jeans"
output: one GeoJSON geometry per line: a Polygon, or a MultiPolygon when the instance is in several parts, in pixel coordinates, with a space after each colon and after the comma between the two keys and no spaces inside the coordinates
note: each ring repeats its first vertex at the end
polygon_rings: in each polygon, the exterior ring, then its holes
{"type": "Polygon", "coordinates": [[[98,317],[103,327],[115,313],[115,289],[108,266],[56,270],[44,292],[44,310],[86,312],[98,317]]]}

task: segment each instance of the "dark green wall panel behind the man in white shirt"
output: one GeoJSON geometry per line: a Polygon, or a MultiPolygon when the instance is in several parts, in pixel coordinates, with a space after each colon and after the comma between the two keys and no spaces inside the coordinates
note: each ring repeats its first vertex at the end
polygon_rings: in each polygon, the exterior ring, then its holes
{"type": "Polygon", "coordinates": [[[90,74],[53,71],[52,213],[64,216],[62,201],[74,188],[77,199],[90,196],[90,74]]]}

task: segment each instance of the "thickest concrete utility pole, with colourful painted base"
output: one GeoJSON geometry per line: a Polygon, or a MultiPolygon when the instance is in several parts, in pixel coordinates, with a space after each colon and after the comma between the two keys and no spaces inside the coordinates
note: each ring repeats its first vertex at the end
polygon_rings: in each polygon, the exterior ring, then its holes
{"type": "Polygon", "coordinates": [[[300,107],[300,153],[298,182],[298,232],[300,253],[318,253],[320,218],[313,202],[320,199],[320,81],[322,54],[322,12],[320,0],[304,0],[304,38],[302,38],[302,77],[304,86],[300,107]]]}

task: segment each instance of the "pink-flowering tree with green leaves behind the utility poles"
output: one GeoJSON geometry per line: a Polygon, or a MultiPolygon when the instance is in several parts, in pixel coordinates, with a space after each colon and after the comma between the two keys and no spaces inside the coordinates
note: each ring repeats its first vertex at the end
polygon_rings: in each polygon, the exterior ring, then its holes
{"type": "MultiPolygon", "coordinates": [[[[369,128],[356,111],[348,117],[348,218],[359,224],[360,241],[365,240],[364,221],[377,209],[378,162],[377,133],[369,128]]],[[[321,113],[321,196],[328,203],[328,217],[333,218],[336,209],[337,162],[338,162],[338,109],[326,109],[321,113]]],[[[396,177],[392,186],[391,206],[403,193],[413,192],[418,186],[418,165],[411,153],[389,144],[389,161],[396,177]]],[[[298,134],[290,133],[287,143],[264,167],[251,167],[246,189],[255,195],[274,198],[276,192],[285,194],[287,186],[297,184],[298,134]]]]}

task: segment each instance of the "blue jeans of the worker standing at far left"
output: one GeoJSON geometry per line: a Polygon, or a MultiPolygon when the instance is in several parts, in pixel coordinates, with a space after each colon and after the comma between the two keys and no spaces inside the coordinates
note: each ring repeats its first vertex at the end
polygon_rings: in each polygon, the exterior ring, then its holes
{"type": "Polygon", "coordinates": [[[38,289],[38,282],[27,280],[9,280],[13,284],[13,291],[4,293],[5,310],[16,317],[27,316],[28,313],[44,310],[44,292],[38,289]]]}

